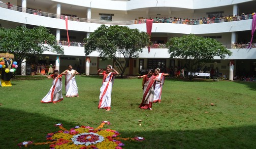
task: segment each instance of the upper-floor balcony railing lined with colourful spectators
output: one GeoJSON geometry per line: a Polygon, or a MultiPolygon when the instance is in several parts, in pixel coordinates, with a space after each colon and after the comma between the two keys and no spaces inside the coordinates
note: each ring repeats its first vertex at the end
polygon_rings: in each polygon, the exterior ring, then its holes
{"type": "MultiPolygon", "coordinates": [[[[17,6],[12,6],[11,8],[7,7],[7,4],[0,3],[0,7],[11,9],[14,11],[24,12],[28,14],[34,14],[44,17],[50,18],[58,18],[58,19],[65,19],[64,15],[57,15],[51,14],[47,12],[39,12],[37,10],[25,9],[17,6]]],[[[153,19],[153,23],[175,23],[175,24],[187,24],[187,25],[200,25],[200,24],[211,24],[211,23],[222,23],[222,22],[230,22],[230,21],[240,21],[240,20],[247,20],[252,19],[252,15],[242,15],[236,16],[232,18],[215,18],[215,19],[205,19],[205,20],[186,20],[186,19],[153,19]]],[[[68,16],[68,20],[70,21],[79,21],[79,22],[87,22],[87,23],[98,23],[98,24],[112,24],[112,25],[131,25],[131,24],[143,24],[146,23],[146,19],[139,19],[139,20],[131,20],[131,21],[106,21],[106,20],[96,20],[96,19],[86,19],[86,18],[79,18],[79,17],[72,17],[68,16]]]]}

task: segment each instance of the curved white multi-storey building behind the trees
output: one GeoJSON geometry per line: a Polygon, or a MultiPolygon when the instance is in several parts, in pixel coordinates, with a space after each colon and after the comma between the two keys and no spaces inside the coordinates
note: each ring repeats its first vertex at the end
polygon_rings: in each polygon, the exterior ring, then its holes
{"type": "MultiPolygon", "coordinates": [[[[170,59],[165,43],[171,37],[185,34],[215,38],[227,46],[232,56],[226,60],[215,58],[205,66],[218,67],[229,75],[230,60],[235,61],[235,75],[256,74],[255,36],[251,48],[246,44],[251,38],[254,0],[9,0],[0,3],[0,24],[5,28],[25,25],[28,28],[45,26],[65,49],[64,56],[44,53],[45,59],[31,59],[30,63],[55,63],[60,71],[68,64],[80,67],[81,73],[96,74],[113,61],[102,61],[97,52],[85,57],[83,38],[89,36],[101,24],[125,25],[146,32],[146,18],[154,19],[151,41],[155,43],[148,52],[143,48],[138,59],[130,61],[126,75],[135,75],[142,68],[183,67],[181,59],[170,59]],[[8,7],[10,2],[13,6],[8,7]],[[67,46],[65,16],[68,16],[68,32],[71,45],[67,46]],[[201,21],[202,20],[202,21],[201,21]]],[[[121,57],[120,57],[121,59],[121,57]]]]}

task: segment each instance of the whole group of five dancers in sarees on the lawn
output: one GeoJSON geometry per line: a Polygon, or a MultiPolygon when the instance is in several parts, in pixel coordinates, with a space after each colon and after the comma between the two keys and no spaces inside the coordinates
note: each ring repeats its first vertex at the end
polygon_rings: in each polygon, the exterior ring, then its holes
{"type": "MultiPolygon", "coordinates": [[[[99,69],[97,73],[98,75],[103,75],[98,109],[105,109],[106,111],[110,111],[112,86],[115,76],[119,75],[119,73],[115,69],[113,69],[111,65],[108,65],[106,67],[106,71],[102,71],[102,69],[99,69]]],[[[78,88],[75,79],[76,74],[79,73],[76,70],[72,69],[71,65],[68,66],[67,70],[63,71],[60,74],[58,70],[54,70],[53,74],[48,76],[48,78],[53,79],[52,87],[50,88],[47,95],[43,98],[43,100],[41,100],[41,103],[57,103],[63,100],[63,96],[61,93],[62,75],[66,75],[66,97],[78,97],[78,88]]],[[[154,73],[153,69],[149,69],[146,75],[138,76],[138,78],[143,78],[143,98],[139,108],[152,110],[153,103],[161,103],[162,87],[164,85],[165,76],[167,75],[169,74],[160,73],[160,69],[156,68],[154,73]]]]}

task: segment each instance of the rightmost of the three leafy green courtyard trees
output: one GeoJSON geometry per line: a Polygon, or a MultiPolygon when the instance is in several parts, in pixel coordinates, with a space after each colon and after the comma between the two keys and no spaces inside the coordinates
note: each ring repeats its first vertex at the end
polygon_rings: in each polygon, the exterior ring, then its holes
{"type": "Polygon", "coordinates": [[[214,57],[225,59],[226,55],[232,55],[232,52],[217,40],[194,34],[173,37],[167,42],[167,47],[170,58],[185,60],[187,72],[194,71],[214,57]]]}

